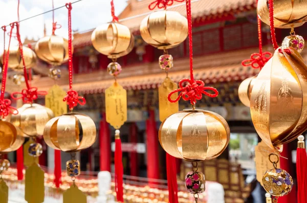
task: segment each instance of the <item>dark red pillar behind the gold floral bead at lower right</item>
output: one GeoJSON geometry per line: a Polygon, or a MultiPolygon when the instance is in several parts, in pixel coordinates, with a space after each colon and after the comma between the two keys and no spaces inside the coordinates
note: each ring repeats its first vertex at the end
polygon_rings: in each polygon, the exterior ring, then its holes
{"type": "MultiPolygon", "coordinates": [[[[283,170],[286,170],[290,173],[290,175],[293,175],[295,171],[292,167],[292,154],[291,150],[289,149],[289,144],[283,145],[283,150],[280,153],[281,156],[287,157],[287,159],[284,159],[283,157],[280,157],[280,168],[283,170]]],[[[283,197],[278,198],[278,203],[289,203],[289,202],[297,202],[297,195],[296,195],[296,186],[293,186],[291,192],[283,197]]]]}

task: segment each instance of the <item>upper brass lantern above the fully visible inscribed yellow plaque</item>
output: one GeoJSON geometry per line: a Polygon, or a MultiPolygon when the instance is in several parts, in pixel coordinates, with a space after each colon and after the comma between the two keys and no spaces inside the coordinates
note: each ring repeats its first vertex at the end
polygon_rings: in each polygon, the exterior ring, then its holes
{"type": "Polygon", "coordinates": [[[94,48],[108,58],[119,58],[134,48],[134,36],[129,28],[116,22],[101,25],[92,33],[94,48]]]}

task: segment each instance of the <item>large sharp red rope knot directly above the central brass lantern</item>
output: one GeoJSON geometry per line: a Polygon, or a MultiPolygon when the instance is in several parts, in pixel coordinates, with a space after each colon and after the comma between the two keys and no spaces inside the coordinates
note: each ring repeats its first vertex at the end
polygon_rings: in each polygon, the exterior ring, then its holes
{"type": "Polygon", "coordinates": [[[191,81],[190,79],[182,79],[179,82],[179,88],[175,89],[173,91],[171,91],[168,94],[168,101],[174,103],[180,100],[180,98],[182,97],[183,100],[188,101],[190,100],[190,103],[192,105],[195,105],[196,100],[201,100],[203,98],[203,94],[207,95],[209,97],[217,97],[218,92],[215,88],[213,87],[206,87],[205,83],[201,80],[196,80],[196,81],[191,81]],[[183,83],[184,82],[188,82],[188,84],[184,87],[183,83]],[[207,90],[211,90],[214,92],[214,94],[208,93],[206,92],[207,90]],[[174,93],[178,93],[181,92],[178,97],[175,100],[171,99],[171,96],[174,93]]]}

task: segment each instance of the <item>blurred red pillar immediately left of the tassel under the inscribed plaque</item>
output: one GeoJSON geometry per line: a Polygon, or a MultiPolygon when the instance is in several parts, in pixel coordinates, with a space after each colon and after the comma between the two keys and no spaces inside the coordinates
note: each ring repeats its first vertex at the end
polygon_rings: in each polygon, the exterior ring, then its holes
{"type": "Polygon", "coordinates": [[[105,120],[105,113],[100,121],[100,171],[111,172],[111,141],[109,124],[105,120]]]}

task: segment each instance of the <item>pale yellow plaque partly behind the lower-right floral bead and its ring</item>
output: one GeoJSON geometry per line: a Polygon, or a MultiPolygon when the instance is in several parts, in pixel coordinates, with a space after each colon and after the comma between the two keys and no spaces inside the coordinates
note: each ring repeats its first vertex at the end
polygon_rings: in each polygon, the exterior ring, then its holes
{"type": "MultiPolygon", "coordinates": [[[[262,185],[262,176],[267,170],[273,168],[273,164],[269,161],[270,153],[275,153],[264,141],[255,146],[255,163],[256,163],[256,178],[262,185]]],[[[277,168],[280,168],[280,162],[277,163],[277,168]]]]}

